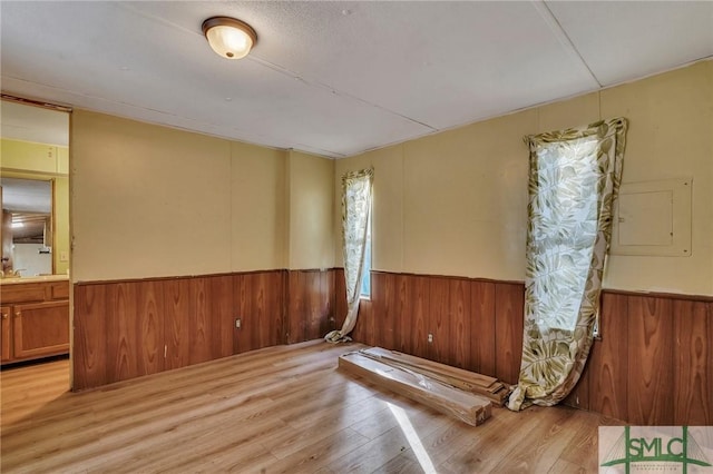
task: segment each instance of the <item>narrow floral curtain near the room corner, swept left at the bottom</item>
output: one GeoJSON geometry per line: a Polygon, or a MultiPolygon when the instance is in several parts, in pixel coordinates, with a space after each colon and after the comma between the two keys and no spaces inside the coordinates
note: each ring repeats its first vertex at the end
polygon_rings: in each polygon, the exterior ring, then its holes
{"type": "Polygon", "coordinates": [[[330,343],[351,340],[348,335],[356,324],[373,178],[373,168],[342,176],[342,239],[348,313],[342,328],[324,336],[330,343]]]}

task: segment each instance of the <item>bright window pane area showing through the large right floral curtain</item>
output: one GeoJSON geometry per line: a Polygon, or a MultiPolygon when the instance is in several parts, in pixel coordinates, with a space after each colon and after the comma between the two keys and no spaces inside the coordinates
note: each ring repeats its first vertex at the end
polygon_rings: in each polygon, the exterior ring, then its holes
{"type": "Polygon", "coordinates": [[[530,201],[530,308],[540,327],[574,330],[597,238],[597,137],[538,147],[530,201]]]}

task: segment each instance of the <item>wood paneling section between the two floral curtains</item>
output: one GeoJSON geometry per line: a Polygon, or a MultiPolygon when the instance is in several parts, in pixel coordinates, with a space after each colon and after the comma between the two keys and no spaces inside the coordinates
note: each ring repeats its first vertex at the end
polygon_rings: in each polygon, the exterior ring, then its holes
{"type": "Polygon", "coordinates": [[[517,382],[521,284],[382,271],[371,280],[355,340],[517,382]]]}

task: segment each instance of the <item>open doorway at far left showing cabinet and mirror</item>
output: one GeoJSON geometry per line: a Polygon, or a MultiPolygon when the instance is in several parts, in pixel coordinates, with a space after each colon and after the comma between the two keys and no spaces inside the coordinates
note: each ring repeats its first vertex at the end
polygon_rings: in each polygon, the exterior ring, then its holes
{"type": "Polygon", "coordinates": [[[71,110],[2,95],[0,112],[4,372],[57,356],[71,361],[71,110]]]}

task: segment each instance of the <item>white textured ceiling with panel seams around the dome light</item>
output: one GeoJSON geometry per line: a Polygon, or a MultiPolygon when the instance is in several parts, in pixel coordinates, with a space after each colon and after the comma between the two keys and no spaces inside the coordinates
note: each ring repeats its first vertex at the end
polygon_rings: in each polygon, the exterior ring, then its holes
{"type": "Polygon", "coordinates": [[[713,2],[2,1],[6,93],[330,157],[713,56],[713,2]],[[203,20],[258,34],[219,58],[203,20]]]}

